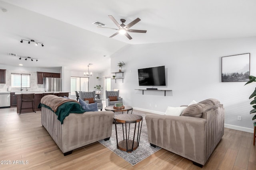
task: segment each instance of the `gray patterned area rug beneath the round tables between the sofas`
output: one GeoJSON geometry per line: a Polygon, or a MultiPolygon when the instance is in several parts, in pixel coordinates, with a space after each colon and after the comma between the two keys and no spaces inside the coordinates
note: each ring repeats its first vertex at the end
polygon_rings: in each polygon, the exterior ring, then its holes
{"type": "MultiPolygon", "coordinates": [[[[118,114],[122,114],[122,112],[115,112],[115,115],[118,115],[118,114]]],[[[124,114],[126,114],[126,113],[124,113],[124,114]]],[[[130,114],[130,112],[129,112],[129,114],[130,114]]],[[[132,114],[141,115],[143,117],[142,129],[141,129],[141,134],[140,134],[140,143],[139,143],[139,147],[136,150],[132,151],[131,153],[128,153],[128,152],[117,149],[117,147],[116,147],[116,128],[115,128],[114,124],[112,125],[112,136],[110,137],[110,140],[108,140],[108,141],[101,140],[99,142],[102,145],[104,145],[105,147],[107,147],[108,149],[110,149],[112,152],[114,152],[115,154],[117,154],[118,156],[120,156],[121,158],[126,160],[127,162],[129,162],[130,164],[135,165],[138,162],[140,162],[143,159],[150,156],[151,154],[153,154],[154,152],[160,150],[161,148],[160,147],[156,147],[156,148],[151,147],[150,143],[148,143],[148,130],[147,130],[147,125],[146,125],[146,120],[145,120],[145,114],[140,111],[137,111],[137,110],[132,111],[132,114]]],[[[120,142],[123,140],[122,123],[117,124],[117,129],[118,129],[118,133],[117,133],[118,134],[117,135],[118,142],[120,142]]],[[[134,123],[131,124],[130,129],[131,129],[130,137],[133,137],[134,123]]],[[[136,134],[137,134],[137,132],[136,132],[136,134]]],[[[135,138],[135,139],[137,139],[137,138],[135,138]]]]}

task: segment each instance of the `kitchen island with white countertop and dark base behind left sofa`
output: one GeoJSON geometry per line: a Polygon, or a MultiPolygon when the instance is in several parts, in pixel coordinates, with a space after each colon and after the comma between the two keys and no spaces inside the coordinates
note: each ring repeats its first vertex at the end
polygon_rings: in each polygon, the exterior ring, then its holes
{"type": "MultiPolygon", "coordinates": [[[[21,106],[21,96],[22,94],[31,94],[34,93],[35,94],[35,106],[36,106],[36,111],[41,110],[38,109],[38,105],[41,102],[43,93],[54,93],[54,95],[56,96],[67,96],[69,92],[15,92],[15,95],[17,95],[17,113],[20,113],[20,106],[21,106]]],[[[33,106],[32,106],[32,102],[23,102],[22,104],[22,111],[21,113],[31,113],[33,112],[33,106]]]]}

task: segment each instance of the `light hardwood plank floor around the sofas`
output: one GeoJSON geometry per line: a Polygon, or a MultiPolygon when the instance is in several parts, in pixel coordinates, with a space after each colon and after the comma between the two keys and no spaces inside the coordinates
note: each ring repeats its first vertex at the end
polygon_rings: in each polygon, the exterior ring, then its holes
{"type": "Polygon", "coordinates": [[[63,156],[41,125],[41,111],[18,115],[12,107],[0,109],[0,169],[256,170],[252,136],[252,133],[225,128],[222,140],[203,168],[164,149],[132,166],[100,143],[63,156]]]}

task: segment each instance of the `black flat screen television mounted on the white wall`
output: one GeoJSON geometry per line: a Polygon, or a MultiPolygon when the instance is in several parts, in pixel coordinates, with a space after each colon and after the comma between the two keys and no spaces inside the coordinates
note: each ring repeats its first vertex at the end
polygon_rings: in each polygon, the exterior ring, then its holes
{"type": "Polygon", "coordinates": [[[138,69],[138,76],[139,86],[166,86],[164,66],[138,69]]]}

